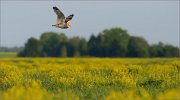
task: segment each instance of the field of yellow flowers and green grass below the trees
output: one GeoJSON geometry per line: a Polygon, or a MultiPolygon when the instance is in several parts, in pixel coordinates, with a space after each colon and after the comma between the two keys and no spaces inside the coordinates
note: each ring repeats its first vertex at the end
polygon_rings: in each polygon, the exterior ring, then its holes
{"type": "Polygon", "coordinates": [[[1,58],[0,100],[180,100],[178,58],[1,58]]]}

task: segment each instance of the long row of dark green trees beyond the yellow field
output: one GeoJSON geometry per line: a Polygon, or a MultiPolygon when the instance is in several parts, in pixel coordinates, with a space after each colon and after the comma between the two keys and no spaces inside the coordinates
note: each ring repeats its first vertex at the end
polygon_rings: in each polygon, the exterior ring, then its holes
{"type": "Polygon", "coordinates": [[[87,41],[64,33],[45,32],[40,39],[29,38],[20,57],[178,57],[179,48],[163,44],[149,45],[138,36],[130,36],[122,28],[105,29],[87,41]]]}

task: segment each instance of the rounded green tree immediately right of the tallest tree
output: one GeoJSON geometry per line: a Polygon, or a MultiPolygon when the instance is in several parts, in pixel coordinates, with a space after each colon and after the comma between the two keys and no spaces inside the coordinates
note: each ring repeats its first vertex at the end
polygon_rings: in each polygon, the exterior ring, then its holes
{"type": "Polygon", "coordinates": [[[148,57],[149,45],[142,37],[131,36],[128,43],[127,57],[148,57]]]}

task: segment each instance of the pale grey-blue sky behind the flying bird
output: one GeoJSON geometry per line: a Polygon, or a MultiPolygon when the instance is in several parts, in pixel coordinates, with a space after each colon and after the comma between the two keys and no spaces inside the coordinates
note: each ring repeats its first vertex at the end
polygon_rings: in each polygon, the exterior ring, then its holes
{"type": "Polygon", "coordinates": [[[1,46],[24,46],[43,32],[65,33],[87,40],[104,29],[121,27],[149,44],[180,45],[180,1],[1,1],[1,46]],[[74,14],[71,28],[52,27],[57,6],[74,14]]]}

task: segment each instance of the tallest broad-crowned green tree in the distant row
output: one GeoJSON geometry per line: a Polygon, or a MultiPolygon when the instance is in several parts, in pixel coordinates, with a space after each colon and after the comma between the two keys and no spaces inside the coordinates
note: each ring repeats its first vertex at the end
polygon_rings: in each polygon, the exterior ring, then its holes
{"type": "Polygon", "coordinates": [[[112,28],[104,30],[104,44],[106,55],[109,57],[124,57],[127,52],[129,34],[121,28],[112,28]]]}

